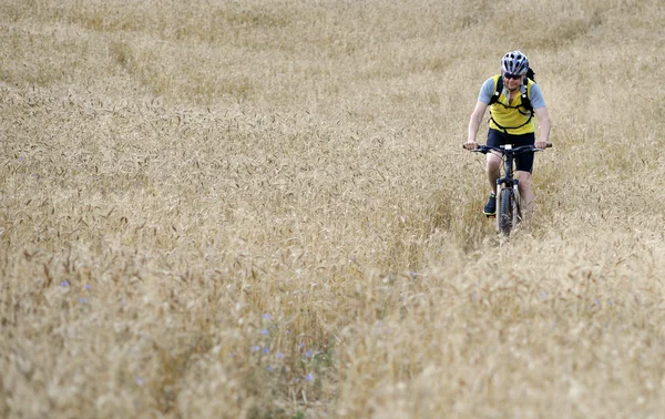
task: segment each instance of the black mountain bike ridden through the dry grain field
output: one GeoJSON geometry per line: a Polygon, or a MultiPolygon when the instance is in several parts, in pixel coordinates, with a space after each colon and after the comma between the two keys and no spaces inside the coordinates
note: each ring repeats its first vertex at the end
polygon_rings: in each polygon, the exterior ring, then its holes
{"type": "MultiPolygon", "coordinates": [[[[548,147],[552,144],[548,143],[548,147]]],[[[494,147],[491,145],[480,145],[475,150],[470,150],[475,153],[499,153],[503,166],[504,176],[497,180],[497,231],[509,236],[510,232],[522,221],[522,209],[520,202],[520,181],[513,177],[514,160],[522,153],[539,152],[543,149],[536,149],[533,145],[522,145],[513,147],[512,144],[494,147]]]]}

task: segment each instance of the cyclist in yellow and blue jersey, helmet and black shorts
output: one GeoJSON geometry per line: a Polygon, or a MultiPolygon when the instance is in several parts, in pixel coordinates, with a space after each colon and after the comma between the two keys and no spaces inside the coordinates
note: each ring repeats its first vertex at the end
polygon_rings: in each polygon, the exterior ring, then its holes
{"type": "MultiPolygon", "coordinates": [[[[488,79],[480,89],[478,103],[469,121],[469,136],[464,147],[473,150],[478,147],[475,135],[487,108],[490,108],[490,130],[487,145],[500,146],[503,144],[535,145],[545,149],[550,137],[550,115],[545,108],[545,101],[540,88],[526,78],[529,71],[529,59],[522,52],[515,50],[508,52],[501,59],[501,74],[488,79]],[[492,100],[497,85],[502,79],[503,89],[495,100],[492,100]],[[531,106],[529,106],[529,103],[531,106]],[[531,108],[531,109],[530,109],[531,108]],[[535,124],[533,115],[538,117],[540,125],[540,137],[535,140],[535,124]]],[[[533,186],[531,172],[533,170],[533,154],[522,153],[515,159],[515,176],[520,181],[520,195],[524,208],[524,215],[533,209],[533,186]]],[[[500,176],[501,157],[488,153],[487,174],[490,182],[491,194],[483,213],[488,216],[497,214],[497,180],[500,176]]]]}

